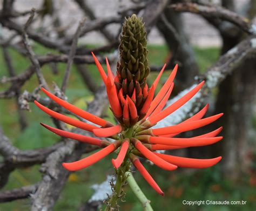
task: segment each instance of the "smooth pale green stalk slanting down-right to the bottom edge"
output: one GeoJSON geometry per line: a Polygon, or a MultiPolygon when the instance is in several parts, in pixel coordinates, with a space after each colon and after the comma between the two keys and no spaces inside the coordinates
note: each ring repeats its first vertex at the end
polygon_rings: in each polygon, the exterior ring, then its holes
{"type": "Polygon", "coordinates": [[[131,172],[126,172],[125,175],[127,176],[127,182],[131,187],[133,193],[137,196],[140,203],[142,203],[144,211],[152,211],[152,207],[150,205],[150,200],[146,198],[140,187],[138,186],[136,180],[133,178],[131,172]]]}

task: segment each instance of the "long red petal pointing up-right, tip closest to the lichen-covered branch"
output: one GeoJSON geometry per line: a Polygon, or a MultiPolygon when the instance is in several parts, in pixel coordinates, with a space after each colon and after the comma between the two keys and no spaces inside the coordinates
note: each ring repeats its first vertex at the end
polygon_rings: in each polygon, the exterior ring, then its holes
{"type": "Polygon", "coordinates": [[[151,115],[148,120],[152,124],[155,124],[158,121],[164,119],[165,117],[167,117],[167,115],[170,115],[172,112],[176,111],[178,108],[180,108],[185,103],[187,103],[187,101],[190,100],[201,89],[201,87],[204,85],[204,83],[205,83],[205,81],[202,81],[200,84],[198,84],[196,87],[194,87],[194,89],[192,89],[190,92],[185,94],[183,97],[178,99],[176,102],[174,102],[169,107],[165,108],[164,111],[162,111],[156,115],[151,115]]]}

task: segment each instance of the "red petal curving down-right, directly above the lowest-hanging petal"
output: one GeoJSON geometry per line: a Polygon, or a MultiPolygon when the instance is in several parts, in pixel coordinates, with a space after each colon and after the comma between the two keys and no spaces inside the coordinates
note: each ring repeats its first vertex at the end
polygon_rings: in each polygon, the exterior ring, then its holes
{"type": "MultiPolygon", "coordinates": [[[[132,140],[134,140],[134,139],[132,139],[132,140]]],[[[177,168],[177,166],[170,165],[169,162],[166,162],[165,160],[159,158],[157,155],[155,155],[153,152],[151,152],[148,148],[146,148],[142,144],[142,142],[137,140],[137,141],[134,141],[133,144],[138,149],[138,151],[145,156],[145,158],[152,161],[153,164],[157,165],[158,167],[163,168],[168,171],[172,171],[177,168]]]]}

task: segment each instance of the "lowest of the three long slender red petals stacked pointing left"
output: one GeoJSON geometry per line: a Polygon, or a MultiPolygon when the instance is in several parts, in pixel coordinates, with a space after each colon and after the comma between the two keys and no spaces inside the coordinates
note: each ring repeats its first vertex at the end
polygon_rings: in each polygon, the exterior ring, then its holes
{"type": "Polygon", "coordinates": [[[96,146],[101,146],[102,145],[102,140],[100,139],[96,139],[96,138],[92,138],[92,137],[86,137],[85,135],[80,135],[80,134],[76,134],[76,133],[71,133],[68,131],[63,131],[63,130],[59,130],[57,128],[51,127],[49,125],[45,125],[43,123],[41,123],[42,126],[44,126],[46,129],[48,129],[49,131],[60,135],[62,137],[65,138],[69,138],[69,139],[75,139],[81,142],[85,142],[87,144],[92,144],[92,145],[96,145],[96,146]]]}

